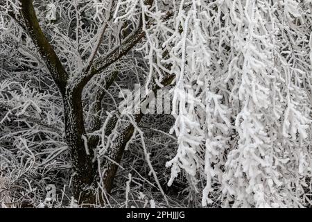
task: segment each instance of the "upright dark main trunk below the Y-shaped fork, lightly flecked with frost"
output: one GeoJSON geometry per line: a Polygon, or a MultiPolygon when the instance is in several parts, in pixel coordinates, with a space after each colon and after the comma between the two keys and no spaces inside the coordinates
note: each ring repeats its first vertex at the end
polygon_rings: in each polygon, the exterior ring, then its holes
{"type": "MultiPolygon", "coordinates": [[[[73,169],[72,188],[73,195],[78,203],[95,203],[94,164],[92,163],[94,151],[85,146],[83,137],[85,136],[85,126],[83,121],[83,105],[81,93],[73,92],[67,87],[63,98],[65,139],[71,152],[71,162],[73,169]]],[[[85,136],[86,137],[86,136],[85,136]]]]}

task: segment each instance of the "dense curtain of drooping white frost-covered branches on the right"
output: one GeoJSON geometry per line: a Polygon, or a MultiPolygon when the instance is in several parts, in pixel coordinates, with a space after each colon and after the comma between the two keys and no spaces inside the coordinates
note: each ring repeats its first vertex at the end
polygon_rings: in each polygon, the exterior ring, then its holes
{"type": "Polygon", "coordinates": [[[172,178],[184,169],[195,187],[206,175],[202,205],[220,186],[225,206],[301,207],[311,177],[311,2],[193,1],[179,12],[172,178]]]}

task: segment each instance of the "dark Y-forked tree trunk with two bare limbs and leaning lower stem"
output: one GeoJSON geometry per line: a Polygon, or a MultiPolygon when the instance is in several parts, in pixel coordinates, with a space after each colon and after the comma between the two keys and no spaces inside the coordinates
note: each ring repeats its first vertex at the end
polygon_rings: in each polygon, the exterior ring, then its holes
{"type": "MultiPolygon", "coordinates": [[[[73,169],[73,196],[80,204],[92,205],[96,203],[95,189],[99,181],[96,171],[98,164],[96,161],[93,161],[94,159],[96,160],[96,158],[94,158],[94,148],[96,148],[98,139],[89,139],[86,136],[81,92],[83,91],[83,87],[87,85],[88,81],[91,80],[93,76],[100,74],[101,71],[112,65],[116,60],[125,56],[133,46],[142,40],[145,33],[142,31],[140,23],[139,28],[123,42],[121,49],[113,49],[110,53],[107,53],[107,56],[94,61],[94,65],[89,67],[90,70],[87,69],[86,74],[80,76],[81,79],[78,87],[72,87],[71,84],[69,84],[69,74],[67,74],[67,71],[62,66],[62,62],[42,32],[35,14],[35,9],[33,8],[33,0],[20,0],[20,3],[20,12],[24,24],[21,22],[19,22],[19,24],[28,31],[46,67],[49,69],[55,84],[58,85],[60,94],[62,94],[65,140],[71,153],[73,169]],[[89,139],[87,142],[83,139],[84,136],[85,139],[89,139]],[[85,144],[88,144],[88,146],[85,146],[85,144]]],[[[152,3],[153,0],[146,0],[146,5],[151,6],[152,3]]],[[[12,17],[15,17],[15,15],[12,15],[12,17]]],[[[15,19],[19,21],[18,17],[15,17],[15,19]]],[[[139,119],[141,119],[141,117],[139,117],[139,119]]],[[[139,119],[137,120],[139,121],[139,119]]],[[[116,144],[107,151],[107,155],[110,159],[117,163],[121,162],[125,145],[131,138],[133,130],[133,126],[128,125],[119,132],[116,144]]],[[[107,130],[107,132],[110,132],[110,130],[107,130]]],[[[118,166],[110,161],[105,161],[102,167],[105,169],[105,175],[101,179],[103,179],[107,192],[110,192],[118,166]]]]}

